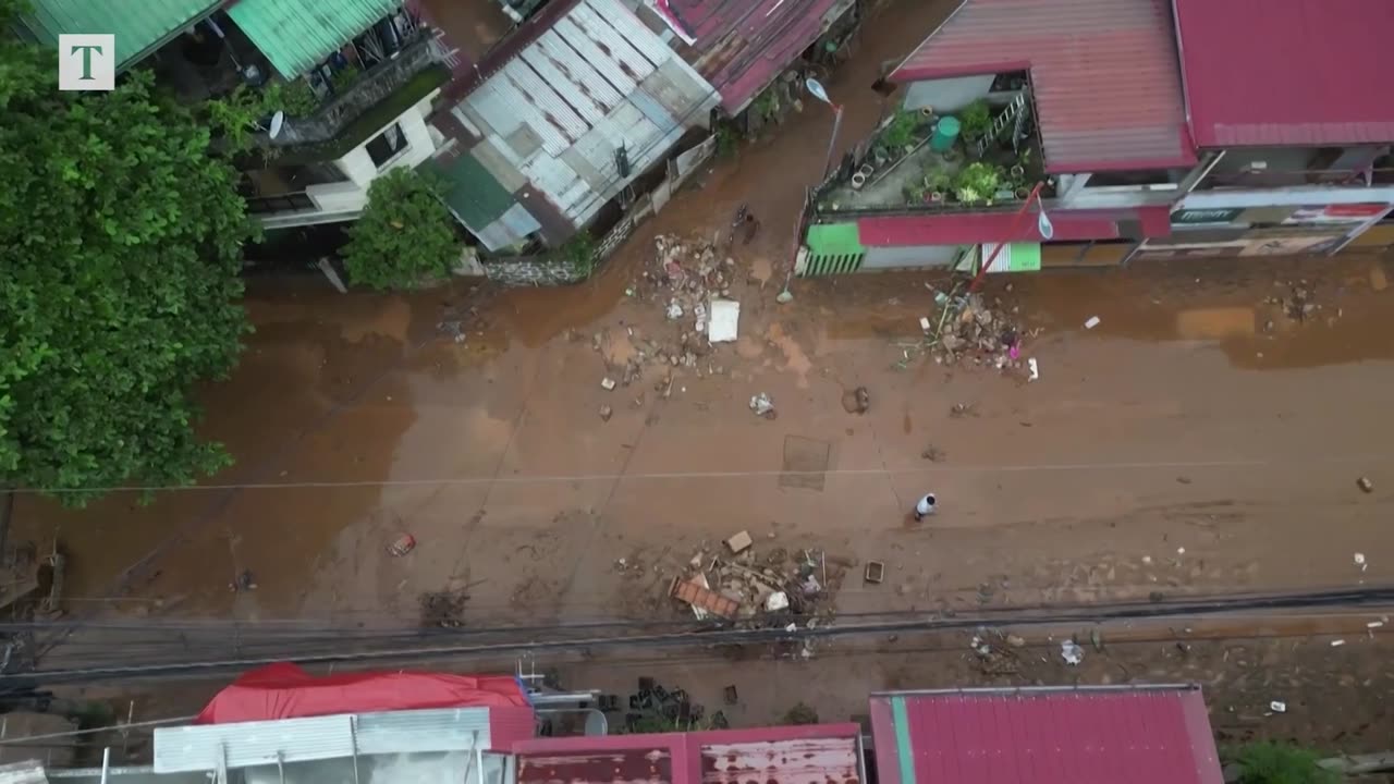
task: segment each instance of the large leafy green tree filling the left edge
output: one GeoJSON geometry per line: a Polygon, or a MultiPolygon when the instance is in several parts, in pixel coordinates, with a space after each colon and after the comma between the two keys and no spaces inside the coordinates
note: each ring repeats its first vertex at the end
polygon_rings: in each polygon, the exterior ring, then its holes
{"type": "Polygon", "coordinates": [[[252,223],[209,133],[145,74],[57,91],[0,0],[0,485],[177,485],[229,456],[191,392],[237,361],[252,223]]]}

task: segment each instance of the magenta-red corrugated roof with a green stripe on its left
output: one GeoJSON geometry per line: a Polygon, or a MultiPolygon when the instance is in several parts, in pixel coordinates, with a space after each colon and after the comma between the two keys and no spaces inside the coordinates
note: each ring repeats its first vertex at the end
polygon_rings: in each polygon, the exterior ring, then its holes
{"type": "Polygon", "coordinates": [[[871,698],[881,784],[1221,784],[1200,689],[871,698]]]}

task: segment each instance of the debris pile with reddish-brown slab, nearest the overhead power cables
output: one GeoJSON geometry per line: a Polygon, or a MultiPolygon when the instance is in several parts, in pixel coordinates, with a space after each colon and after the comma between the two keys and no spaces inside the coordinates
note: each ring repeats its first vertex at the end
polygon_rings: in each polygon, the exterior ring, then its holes
{"type": "Polygon", "coordinates": [[[821,550],[757,552],[750,534],[740,532],[717,552],[703,547],[693,554],[686,572],[673,578],[669,596],[689,604],[698,621],[811,629],[832,618],[832,594],[855,565],[821,550]]]}

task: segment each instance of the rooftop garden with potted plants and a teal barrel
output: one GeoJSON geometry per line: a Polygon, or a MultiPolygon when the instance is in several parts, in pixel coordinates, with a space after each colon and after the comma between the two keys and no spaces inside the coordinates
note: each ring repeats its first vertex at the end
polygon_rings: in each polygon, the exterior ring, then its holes
{"type": "MultiPolygon", "coordinates": [[[[1012,106],[976,100],[937,116],[901,109],[860,148],[850,173],[828,186],[817,209],[829,212],[986,209],[1011,206],[1046,180],[1034,126],[1012,106]],[[1013,138],[1015,137],[1015,138],[1013,138]]],[[[1052,183],[1046,181],[1044,195],[1052,183]]]]}

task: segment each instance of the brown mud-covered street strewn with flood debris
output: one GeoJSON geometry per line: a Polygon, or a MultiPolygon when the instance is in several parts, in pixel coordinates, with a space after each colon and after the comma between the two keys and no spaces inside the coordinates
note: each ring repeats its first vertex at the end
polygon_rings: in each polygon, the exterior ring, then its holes
{"type": "MultiPolygon", "coordinates": [[[[880,64],[933,29],[940,6],[905,0],[867,24],[828,85],[848,105],[843,142],[874,126],[880,64]]],[[[11,536],[59,536],[77,617],[344,628],[415,626],[422,594],[442,590],[468,593],[466,626],[680,619],[690,611],[668,597],[671,578],[742,530],[760,550],[818,550],[850,565],[857,579],[835,593],[836,614],[1394,580],[1384,259],[995,276],[984,300],[1013,324],[1040,378],[972,359],[941,364],[920,352],[919,321],[937,314],[930,286],[944,287],[942,275],[795,280],[795,300],[775,303],[827,145],[820,109],[804,106],[675,195],[580,286],[461,282],[385,297],[340,296],[315,279],[254,282],[256,332],[241,365],[202,393],[205,431],[237,465],[149,506],[139,492],[81,512],[22,495],[11,536]],[[740,202],[763,229],[736,241],[730,266],[714,254],[725,282],[714,286],[740,301],[740,338],[684,349],[694,314],[666,318],[655,237],[710,239],[740,202]],[[1100,322],[1085,329],[1090,317],[1100,322]],[[857,388],[863,413],[843,405],[857,388]],[[761,393],[772,419],[751,412],[761,393]],[[927,491],[938,513],[912,525],[927,491]],[[415,547],[395,557],[403,534],[415,547]],[[867,561],[885,564],[882,583],[863,585],[867,561]],[[255,590],[230,590],[244,573],[255,590]]],[[[700,255],[682,258],[683,280],[700,273],[700,255]]],[[[1193,679],[1231,695],[1239,682],[1255,691],[1213,704],[1238,704],[1218,730],[1362,748],[1394,725],[1387,646],[1361,643],[1333,653],[1324,639],[1262,639],[1227,654],[1234,644],[1197,642],[1182,654],[1175,642],[1139,642],[1119,646],[1135,657],[1126,667],[1090,656],[1076,671],[1039,642],[1051,667],[983,675],[967,640],[952,638],[913,654],[924,667],[906,664],[913,647],[669,667],[708,688],[749,684],[747,704],[768,695],[749,721],[785,710],[775,693],[820,672],[849,674],[845,693],[825,698],[829,710],[892,686],[1107,677],[1193,679]],[[1253,718],[1273,678],[1285,696],[1269,699],[1328,713],[1253,718]],[[1333,702],[1337,689],[1365,696],[1333,702]]],[[[572,685],[606,688],[633,672],[604,675],[595,663],[572,685]]]]}

